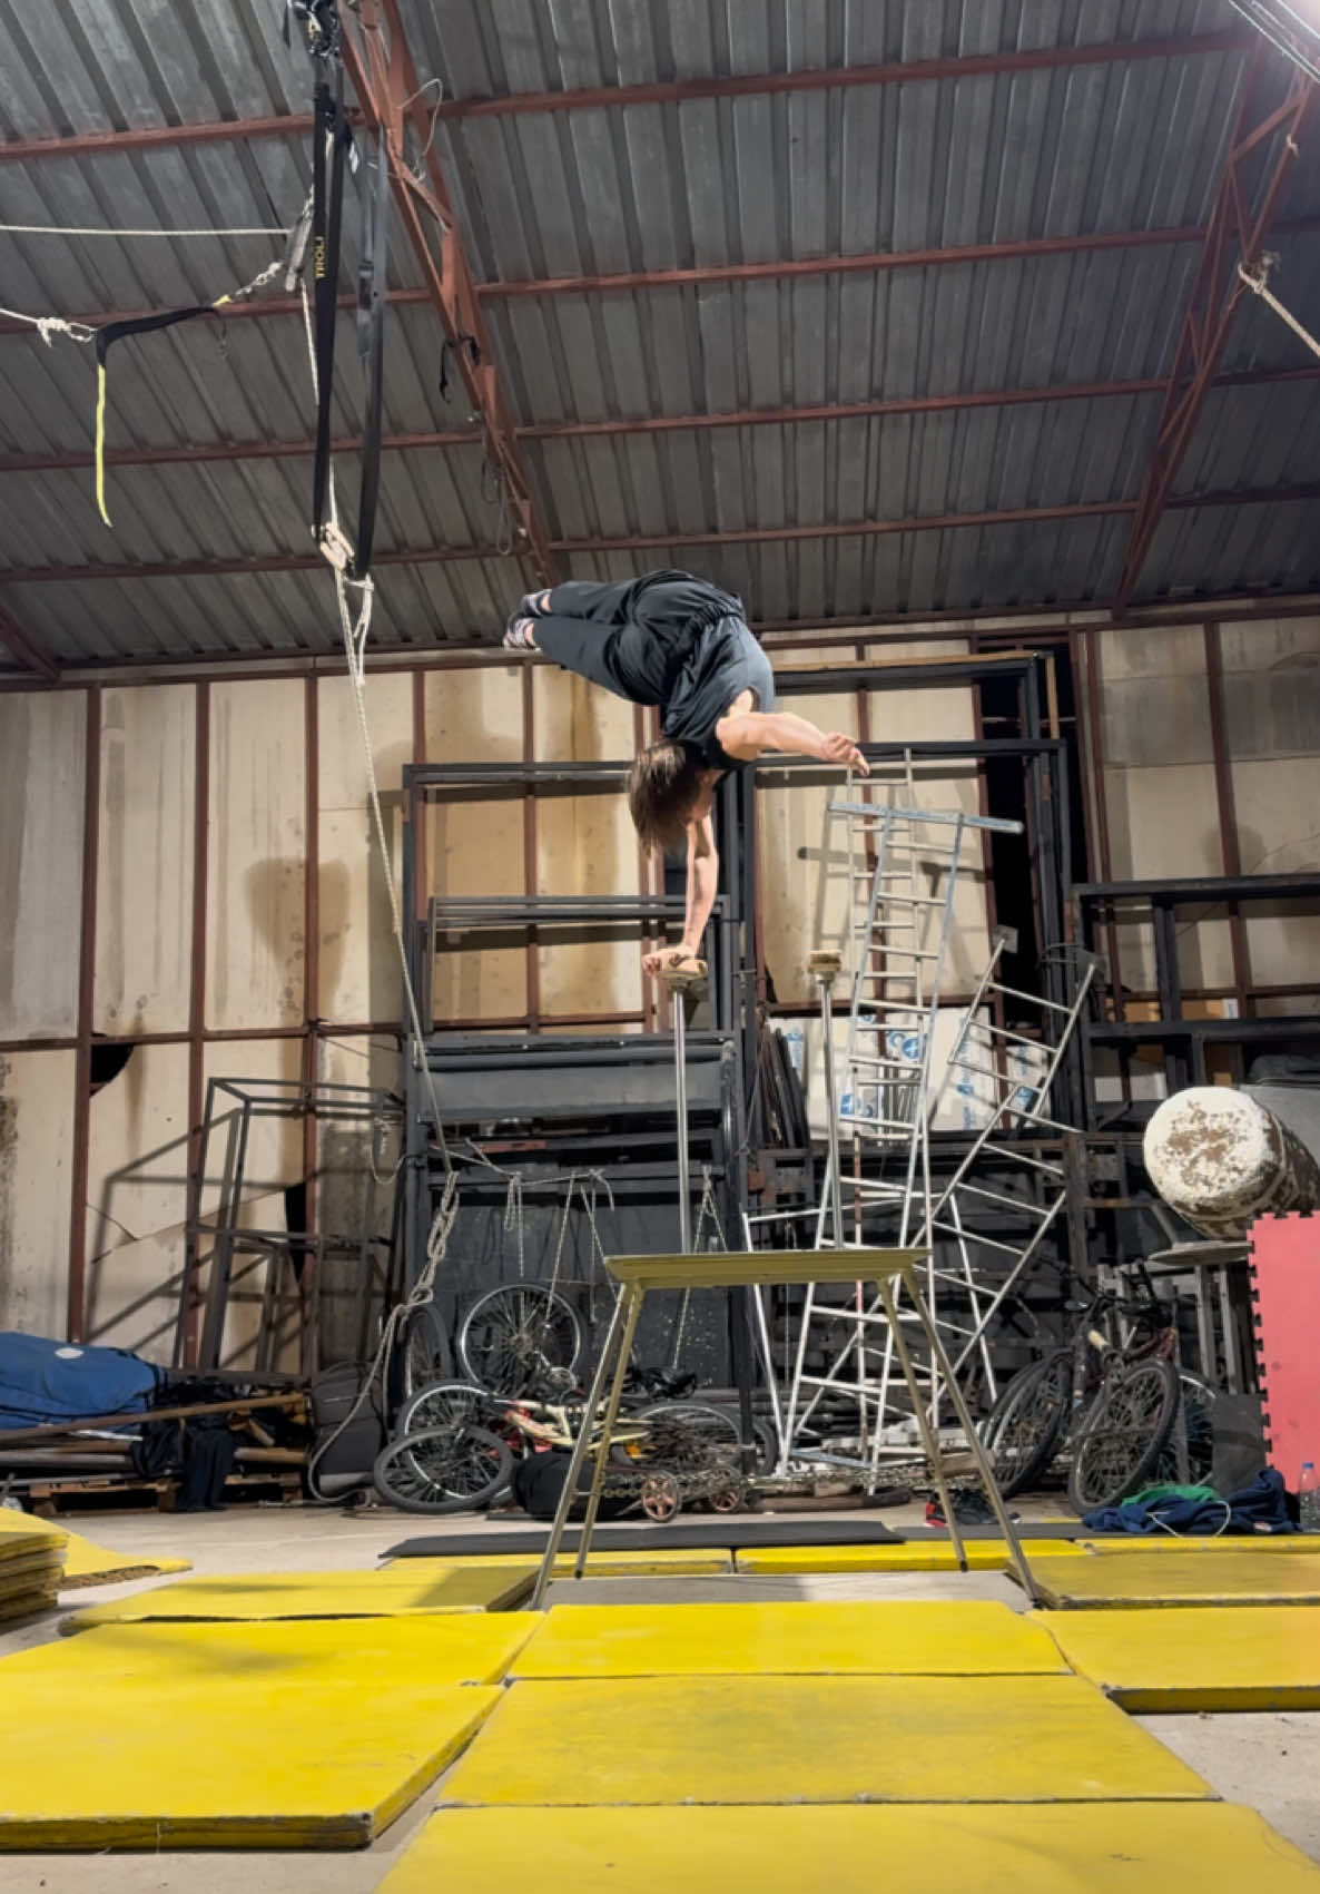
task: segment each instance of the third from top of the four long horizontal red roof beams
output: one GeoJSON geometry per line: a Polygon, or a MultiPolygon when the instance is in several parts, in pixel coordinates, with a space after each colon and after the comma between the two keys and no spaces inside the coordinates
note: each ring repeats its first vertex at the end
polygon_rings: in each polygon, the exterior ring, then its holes
{"type": "MultiPolygon", "coordinates": [[[[1248,367],[1214,377],[1216,388],[1254,388],[1286,383],[1320,381],[1314,367],[1248,367]]],[[[521,441],[578,441],[619,434],[682,434],[710,428],[794,426],[807,420],[877,420],[886,415],[943,415],[970,407],[1026,407],[1042,402],[1097,402],[1112,396],[1163,394],[1165,379],[1148,375],[1131,381],[1074,381],[1042,388],[981,388],[966,394],[913,394],[875,402],[820,402],[809,407],[742,407],[722,415],[648,415],[612,420],[536,420],[515,428],[521,441]]],[[[439,432],[386,434],[383,451],[426,447],[473,447],[481,436],[473,428],[439,432]]],[[[335,453],[352,455],[362,447],[358,436],[345,434],[333,441],[335,453]]],[[[303,441],[205,441],[199,445],[110,447],[106,466],[174,466],[189,460],[292,460],[314,453],[312,439],[303,441]]],[[[0,455],[0,474],[62,474],[93,466],[91,449],[55,455],[0,455]]]]}

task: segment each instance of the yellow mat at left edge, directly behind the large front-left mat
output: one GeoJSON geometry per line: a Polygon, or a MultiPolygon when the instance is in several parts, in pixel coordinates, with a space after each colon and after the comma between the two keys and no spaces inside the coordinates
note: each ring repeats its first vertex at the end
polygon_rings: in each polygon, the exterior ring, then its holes
{"type": "Polygon", "coordinates": [[[68,1691],[78,1682],[144,1689],[205,1689],[256,1682],[301,1689],[358,1684],[373,1669],[426,1684],[498,1684],[544,1623],[538,1612],[449,1612],[413,1617],[290,1617],[267,1623],[176,1619],[106,1625],[72,1644],[42,1644],[0,1659],[0,1701],[68,1691]]]}

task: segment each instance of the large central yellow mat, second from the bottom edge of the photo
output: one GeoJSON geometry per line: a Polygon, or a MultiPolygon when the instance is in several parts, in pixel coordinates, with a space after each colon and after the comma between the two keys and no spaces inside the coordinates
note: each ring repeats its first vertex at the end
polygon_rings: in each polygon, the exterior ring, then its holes
{"type": "Polygon", "coordinates": [[[657,1676],[513,1684],[441,1799],[564,1807],[1210,1794],[1076,1676],[657,1676]]]}

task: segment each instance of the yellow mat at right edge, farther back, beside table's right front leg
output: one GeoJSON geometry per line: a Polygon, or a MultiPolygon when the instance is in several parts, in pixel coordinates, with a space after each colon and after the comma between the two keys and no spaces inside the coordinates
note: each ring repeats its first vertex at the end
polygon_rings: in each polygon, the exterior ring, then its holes
{"type": "Polygon", "coordinates": [[[1044,1604],[1055,1610],[1085,1606],[1170,1604],[1320,1604],[1320,1553],[1240,1551],[1129,1553],[1127,1559],[1032,1559],[1032,1578],[1044,1604]]]}

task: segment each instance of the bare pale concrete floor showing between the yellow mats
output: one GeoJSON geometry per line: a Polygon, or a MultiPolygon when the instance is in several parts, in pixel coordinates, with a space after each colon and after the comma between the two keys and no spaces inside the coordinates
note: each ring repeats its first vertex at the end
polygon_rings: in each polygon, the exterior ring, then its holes
{"type": "MultiPolygon", "coordinates": [[[[837,1517],[837,1515],[831,1515],[837,1517]]],[[[894,1530],[919,1525],[919,1508],[881,1515],[894,1530]]],[[[256,1508],[172,1519],[161,1513],[72,1519],[102,1546],[140,1557],[176,1555],[206,1572],[369,1570],[379,1555],[409,1536],[413,1521],[398,1513],[341,1515],[320,1510],[256,1508]]],[[[430,1521],[417,1521],[428,1536],[430,1521]]],[[[506,1530],[526,1521],[491,1521],[491,1549],[506,1530]]],[[[445,1521],[436,1521],[443,1530],[445,1521]]],[[[472,1530],[472,1521],[455,1521],[472,1530]]],[[[76,1610],[127,1597],[169,1580],[98,1585],[66,1593],[76,1610]]],[[[602,1578],[561,1583],[555,1599],[580,1602],[650,1602],[684,1599],[1002,1599],[1025,1608],[1017,1585],[996,1572],[822,1574],[801,1578],[602,1578]]],[[[59,1635],[59,1616],[0,1635],[0,1655],[59,1635]]],[[[1320,1712],[1259,1716],[1142,1716],[1138,1722],[1197,1769],[1220,1796],[1246,1803],[1282,1835],[1320,1862],[1320,1712]]],[[[199,1737],[199,1742],[205,1739],[199,1737]]],[[[432,1807],[422,1796],[360,1854],[0,1854],[4,1894],[369,1894],[409,1845],[432,1807]]]]}

